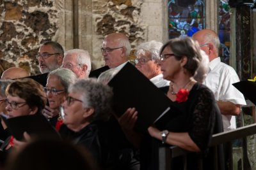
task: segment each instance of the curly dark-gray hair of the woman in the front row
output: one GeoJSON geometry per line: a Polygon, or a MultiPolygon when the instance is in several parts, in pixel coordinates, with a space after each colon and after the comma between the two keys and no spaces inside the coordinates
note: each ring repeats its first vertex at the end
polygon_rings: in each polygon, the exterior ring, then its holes
{"type": "Polygon", "coordinates": [[[92,121],[106,120],[112,113],[112,89],[95,78],[77,80],[69,87],[68,92],[81,94],[84,108],[94,108],[92,121]]]}

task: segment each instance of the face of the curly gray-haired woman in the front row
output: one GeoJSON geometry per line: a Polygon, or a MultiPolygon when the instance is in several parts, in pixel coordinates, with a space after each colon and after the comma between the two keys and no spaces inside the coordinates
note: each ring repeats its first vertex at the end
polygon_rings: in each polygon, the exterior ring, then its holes
{"type": "Polygon", "coordinates": [[[67,99],[70,98],[70,101],[66,100],[62,104],[64,111],[63,122],[70,129],[77,129],[84,123],[84,108],[81,97],[79,93],[70,92],[67,97],[67,99]]]}

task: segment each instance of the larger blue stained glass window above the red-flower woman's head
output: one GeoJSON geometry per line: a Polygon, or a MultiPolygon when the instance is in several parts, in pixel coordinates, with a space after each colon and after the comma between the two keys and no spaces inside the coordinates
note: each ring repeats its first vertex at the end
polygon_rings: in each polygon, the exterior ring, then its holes
{"type": "Polygon", "coordinates": [[[205,1],[168,1],[169,39],[179,36],[192,36],[195,32],[204,28],[205,1]]]}

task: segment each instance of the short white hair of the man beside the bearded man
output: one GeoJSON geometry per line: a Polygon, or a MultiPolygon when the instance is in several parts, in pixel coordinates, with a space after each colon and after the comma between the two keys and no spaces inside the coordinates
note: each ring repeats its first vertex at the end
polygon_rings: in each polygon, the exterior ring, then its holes
{"type": "Polygon", "coordinates": [[[86,64],[87,66],[86,72],[87,74],[90,73],[92,66],[91,66],[91,58],[88,51],[82,50],[82,49],[72,49],[64,53],[64,55],[67,55],[67,54],[77,55],[77,64],[86,64]]]}

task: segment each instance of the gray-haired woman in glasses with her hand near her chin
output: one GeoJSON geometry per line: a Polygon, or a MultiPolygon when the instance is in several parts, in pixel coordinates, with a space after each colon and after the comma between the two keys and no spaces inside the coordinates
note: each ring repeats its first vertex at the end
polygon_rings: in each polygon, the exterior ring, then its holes
{"type": "Polygon", "coordinates": [[[68,87],[76,81],[76,74],[70,69],[60,68],[48,74],[47,83],[44,87],[49,106],[45,106],[43,115],[48,118],[54,127],[60,120],[60,106],[67,97],[68,87]]]}

